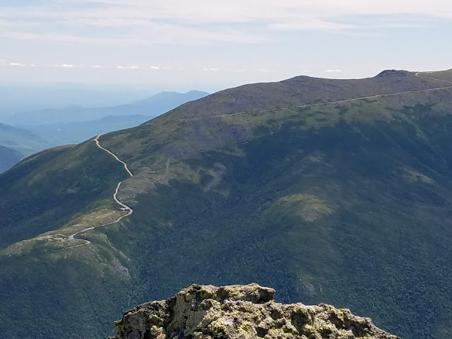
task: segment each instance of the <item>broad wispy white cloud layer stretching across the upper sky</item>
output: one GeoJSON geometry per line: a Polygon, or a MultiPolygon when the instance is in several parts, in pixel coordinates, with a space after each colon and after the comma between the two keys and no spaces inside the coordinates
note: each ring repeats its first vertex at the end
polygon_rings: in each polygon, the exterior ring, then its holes
{"type": "Polygon", "coordinates": [[[53,0],[0,8],[1,37],[112,46],[251,43],[278,31],[413,28],[418,25],[409,22],[410,16],[452,18],[450,0],[192,0],[190,6],[182,6],[180,0],[53,0]],[[391,15],[399,17],[387,20],[391,15]],[[371,17],[356,23],[350,19],[356,16],[371,17]],[[235,23],[252,23],[259,29],[235,23]],[[70,34],[74,27],[86,28],[89,34],[70,34]],[[108,28],[112,31],[106,34],[108,28]]]}

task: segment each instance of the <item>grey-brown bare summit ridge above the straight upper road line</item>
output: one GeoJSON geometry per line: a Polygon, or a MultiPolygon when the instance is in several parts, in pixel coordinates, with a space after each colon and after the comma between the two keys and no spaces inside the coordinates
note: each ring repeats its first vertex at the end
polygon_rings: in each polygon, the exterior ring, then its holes
{"type": "MultiPolygon", "coordinates": [[[[371,78],[363,79],[329,79],[329,78],[313,78],[309,76],[296,76],[284,81],[274,83],[254,83],[242,85],[237,88],[222,90],[218,93],[208,96],[208,100],[203,100],[203,107],[208,107],[213,112],[222,112],[222,114],[236,113],[239,110],[251,110],[256,107],[263,109],[278,108],[271,106],[271,102],[278,100],[278,104],[283,107],[289,105],[296,107],[297,105],[311,105],[319,102],[334,102],[344,99],[352,99],[350,92],[355,97],[367,97],[371,95],[385,95],[397,92],[406,92],[410,90],[427,90],[435,88],[434,84],[428,78],[416,76],[422,72],[395,71],[396,74],[403,74],[403,79],[395,77],[396,81],[392,81],[393,76],[387,76],[395,70],[382,71],[378,75],[371,78]],[[410,81],[410,82],[408,82],[410,81]],[[385,83],[386,82],[386,83],[385,83]],[[272,93],[271,97],[259,97],[254,93],[260,90],[262,93],[272,93]],[[239,93],[239,94],[237,94],[239,93]],[[232,98],[228,98],[228,96],[232,98]],[[347,97],[343,97],[343,96],[347,97]],[[281,97],[290,97],[290,100],[282,101],[281,97]],[[250,100],[251,99],[251,100],[250,100]],[[220,105],[210,106],[213,102],[220,105]],[[237,107],[240,102],[246,102],[246,106],[237,107]]],[[[445,71],[448,72],[448,71],[445,71]]],[[[452,72],[451,72],[452,73],[452,72]]],[[[452,76],[451,76],[452,78],[452,76]]],[[[446,87],[446,86],[436,86],[446,87]]],[[[196,104],[196,103],[195,103],[196,104]]],[[[178,107],[165,117],[172,117],[172,112],[178,117],[184,117],[182,110],[188,112],[196,112],[198,107],[187,106],[178,107]]]]}

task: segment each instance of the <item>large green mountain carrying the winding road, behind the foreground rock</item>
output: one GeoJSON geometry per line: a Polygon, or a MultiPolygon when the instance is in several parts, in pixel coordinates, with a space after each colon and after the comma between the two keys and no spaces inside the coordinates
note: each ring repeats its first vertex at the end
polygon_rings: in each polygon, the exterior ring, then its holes
{"type": "Polygon", "coordinates": [[[24,160],[0,177],[0,338],[103,338],[121,311],[195,282],[256,282],[402,338],[450,338],[452,90],[428,89],[451,80],[225,90],[102,136],[131,179],[93,140],[24,160]],[[371,97],[391,93],[404,94],[371,97]],[[337,102],[355,97],[369,98],[337,102]],[[133,214],[67,249],[120,213],[121,180],[133,214]]]}

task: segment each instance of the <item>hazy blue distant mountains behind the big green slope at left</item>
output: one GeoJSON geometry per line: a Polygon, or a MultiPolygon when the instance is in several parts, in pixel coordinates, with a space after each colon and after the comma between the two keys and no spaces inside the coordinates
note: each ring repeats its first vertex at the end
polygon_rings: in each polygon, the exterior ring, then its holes
{"type": "MultiPolygon", "coordinates": [[[[44,148],[81,143],[100,133],[129,129],[186,102],[200,99],[206,92],[162,92],[153,97],[114,107],[68,107],[15,114],[8,126],[0,124],[0,145],[26,157],[44,148]]],[[[16,162],[5,162],[4,169],[16,162]]],[[[20,160],[20,159],[19,159],[20,160]]],[[[0,172],[3,172],[0,170],[0,172]]]]}

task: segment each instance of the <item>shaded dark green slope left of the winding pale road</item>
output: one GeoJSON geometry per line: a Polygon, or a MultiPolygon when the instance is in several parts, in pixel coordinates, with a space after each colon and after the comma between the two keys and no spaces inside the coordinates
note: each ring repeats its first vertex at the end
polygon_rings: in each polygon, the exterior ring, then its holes
{"type": "Polygon", "coordinates": [[[113,206],[99,200],[107,198],[111,185],[121,177],[121,167],[110,167],[109,159],[89,143],[28,157],[1,177],[0,208],[5,213],[0,246],[57,229],[90,203],[95,208],[113,206]]]}

